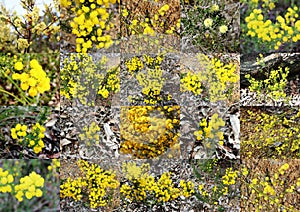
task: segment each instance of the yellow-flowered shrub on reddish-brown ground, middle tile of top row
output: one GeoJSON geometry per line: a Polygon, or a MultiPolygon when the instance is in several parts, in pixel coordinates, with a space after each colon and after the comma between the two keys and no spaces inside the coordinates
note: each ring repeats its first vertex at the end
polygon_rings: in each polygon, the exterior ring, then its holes
{"type": "Polygon", "coordinates": [[[121,3],[121,51],[160,53],[180,49],[180,1],[121,3]]]}

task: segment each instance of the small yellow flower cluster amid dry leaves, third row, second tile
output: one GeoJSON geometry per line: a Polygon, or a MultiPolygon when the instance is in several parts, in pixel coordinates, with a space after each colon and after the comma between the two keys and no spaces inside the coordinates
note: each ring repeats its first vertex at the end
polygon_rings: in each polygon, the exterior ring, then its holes
{"type": "Polygon", "coordinates": [[[79,134],[79,138],[81,141],[86,142],[87,146],[91,146],[93,144],[98,145],[100,141],[100,127],[96,122],[92,122],[89,127],[85,126],[83,128],[83,133],[79,134]]]}

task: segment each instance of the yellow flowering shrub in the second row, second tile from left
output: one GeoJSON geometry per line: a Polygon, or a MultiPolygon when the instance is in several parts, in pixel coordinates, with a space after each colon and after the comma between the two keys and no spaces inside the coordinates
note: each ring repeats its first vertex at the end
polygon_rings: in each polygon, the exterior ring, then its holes
{"type": "Polygon", "coordinates": [[[120,67],[106,68],[106,63],[106,57],[95,63],[87,54],[71,54],[61,69],[61,95],[94,106],[97,96],[107,99],[110,92],[119,92],[120,67]]]}

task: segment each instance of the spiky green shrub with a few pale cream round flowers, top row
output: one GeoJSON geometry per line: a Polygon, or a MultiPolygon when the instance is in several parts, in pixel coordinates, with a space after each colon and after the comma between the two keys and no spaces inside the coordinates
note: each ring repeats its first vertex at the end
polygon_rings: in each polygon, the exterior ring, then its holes
{"type": "Polygon", "coordinates": [[[207,52],[237,52],[239,49],[238,29],[239,17],[234,12],[239,10],[236,1],[181,1],[181,34],[184,43],[183,49],[191,44],[207,52]],[[228,6],[228,9],[226,8],[228,6]]]}

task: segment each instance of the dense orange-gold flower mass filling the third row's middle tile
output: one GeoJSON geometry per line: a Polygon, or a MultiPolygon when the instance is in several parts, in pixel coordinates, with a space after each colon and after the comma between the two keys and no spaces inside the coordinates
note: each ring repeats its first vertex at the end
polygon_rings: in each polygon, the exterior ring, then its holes
{"type": "Polygon", "coordinates": [[[155,158],[179,150],[179,106],[121,108],[120,151],[136,158],[155,158]]]}

